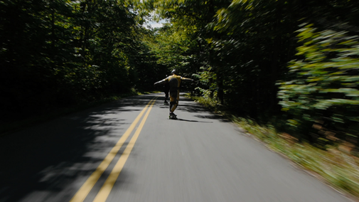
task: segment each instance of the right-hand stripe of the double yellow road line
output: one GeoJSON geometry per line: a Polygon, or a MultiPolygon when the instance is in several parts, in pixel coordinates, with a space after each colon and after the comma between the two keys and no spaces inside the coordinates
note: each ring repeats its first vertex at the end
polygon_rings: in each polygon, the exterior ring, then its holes
{"type": "Polygon", "coordinates": [[[139,137],[139,133],[141,132],[142,127],[144,127],[144,123],[146,122],[146,119],[149,116],[149,112],[151,112],[153,106],[154,106],[154,102],[152,103],[151,107],[149,107],[149,110],[147,110],[146,115],[144,115],[144,118],[139,124],[139,127],[136,129],[136,132],[134,132],[134,136],[129,141],[129,144],[127,145],[126,149],[124,149],[124,153],[119,157],[119,161],[117,161],[117,164],[114,166],[114,169],[112,169],[111,173],[109,174],[109,177],[105,181],[105,184],[102,186],[99,193],[97,193],[94,202],[106,201],[107,197],[109,196],[109,192],[112,190],[114,183],[117,181],[117,178],[119,177],[119,173],[122,171],[124,164],[129,158],[129,154],[131,153],[132,148],[134,148],[134,143],[139,137]]]}

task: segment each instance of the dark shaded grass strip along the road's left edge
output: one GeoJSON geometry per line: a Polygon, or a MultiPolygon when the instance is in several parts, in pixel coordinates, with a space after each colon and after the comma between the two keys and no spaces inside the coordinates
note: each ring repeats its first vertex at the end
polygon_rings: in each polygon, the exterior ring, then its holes
{"type": "MultiPolygon", "coordinates": [[[[154,91],[157,92],[157,91],[154,91]]],[[[43,113],[42,115],[29,116],[25,119],[16,119],[11,120],[9,122],[0,123],[0,137],[6,134],[11,134],[18,130],[21,130],[26,127],[30,127],[34,124],[38,124],[41,122],[48,121],[50,119],[55,119],[57,117],[69,115],[73,112],[79,112],[82,110],[86,110],[91,107],[96,107],[98,105],[105,104],[107,102],[112,102],[115,100],[122,99],[124,97],[134,96],[134,95],[149,95],[154,92],[138,92],[136,90],[132,90],[131,92],[124,93],[121,95],[112,95],[109,97],[104,97],[100,100],[96,100],[94,102],[82,103],[81,105],[76,105],[73,107],[65,107],[55,110],[50,110],[49,112],[43,113]]]]}

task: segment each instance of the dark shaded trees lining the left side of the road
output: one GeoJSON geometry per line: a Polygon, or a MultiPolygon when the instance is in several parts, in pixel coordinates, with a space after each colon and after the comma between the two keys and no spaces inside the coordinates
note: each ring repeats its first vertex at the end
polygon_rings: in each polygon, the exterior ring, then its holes
{"type": "Polygon", "coordinates": [[[41,113],[153,83],[139,82],[139,69],[154,58],[130,2],[5,0],[0,9],[4,115],[41,113]],[[143,55],[148,59],[139,60],[143,55]]]}

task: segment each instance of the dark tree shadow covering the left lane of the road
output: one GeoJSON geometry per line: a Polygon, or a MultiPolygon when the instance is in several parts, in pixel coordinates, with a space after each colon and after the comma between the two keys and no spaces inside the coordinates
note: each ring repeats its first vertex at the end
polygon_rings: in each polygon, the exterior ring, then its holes
{"type": "Polygon", "coordinates": [[[69,201],[68,184],[92,174],[103,160],[96,153],[114,147],[131,124],[118,115],[140,111],[154,96],[127,97],[0,137],[0,201],[33,193],[43,197],[30,201],[69,201]]]}

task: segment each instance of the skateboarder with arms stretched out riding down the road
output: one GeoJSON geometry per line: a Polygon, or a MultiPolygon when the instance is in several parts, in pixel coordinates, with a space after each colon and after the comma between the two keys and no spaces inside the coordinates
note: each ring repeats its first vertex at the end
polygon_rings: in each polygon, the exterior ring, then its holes
{"type": "Polygon", "coordinates": [[[193,79],[191,79],[191,78],[183,78],[180,75],[176,75],[176,73],[177,73],[176,70],[172,70],[171,76],[169,76],[168,78],[165,78],[164,80],[160,80],[160,81],[154,83],[154,85],[165,83],[165,82],[169,83],[169,87],[170,87],[170,90],[169,90],[169,96],[170,96],[169,117],[170,117],[170,119],[176,118],[176,115],[173,112],[174,112],[174,110],[176,110],[176,108],[178,106],[179,89],[181,87],[181,81],[186,81],[186,80],[193,81],[193,79]]]}

